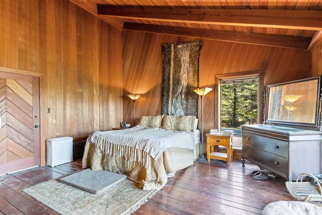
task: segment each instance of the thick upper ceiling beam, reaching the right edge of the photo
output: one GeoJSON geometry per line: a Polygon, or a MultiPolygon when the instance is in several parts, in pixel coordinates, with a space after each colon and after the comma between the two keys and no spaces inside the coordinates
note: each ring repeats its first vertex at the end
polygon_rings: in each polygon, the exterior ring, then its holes
{"type": "Polygon", "coordinates": [[[308,10],[232,10],[98,5],[102,17],[154,20],[211,25],[322,30],[322,11],[308,10]]]}

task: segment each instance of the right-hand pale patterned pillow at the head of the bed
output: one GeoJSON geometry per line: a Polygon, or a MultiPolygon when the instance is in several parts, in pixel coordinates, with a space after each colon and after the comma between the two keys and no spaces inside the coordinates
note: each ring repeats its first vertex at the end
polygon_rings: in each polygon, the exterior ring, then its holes
{"type": "Polygon", "coordinates": [[[163,128],[168,130],[193,131],[195,116],[169,116],[163,117],[163,128]]]}

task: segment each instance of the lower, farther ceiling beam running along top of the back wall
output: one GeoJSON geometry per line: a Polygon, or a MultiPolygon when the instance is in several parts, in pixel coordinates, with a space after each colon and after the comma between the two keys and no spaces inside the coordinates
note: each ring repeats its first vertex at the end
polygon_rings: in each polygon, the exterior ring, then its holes
{"type": "Polygon", "coordinates": [[[123,29],[305,50],[310,44],[310,38],[307,37],[184,28],[127,22],[124,23],[123,29]]]}

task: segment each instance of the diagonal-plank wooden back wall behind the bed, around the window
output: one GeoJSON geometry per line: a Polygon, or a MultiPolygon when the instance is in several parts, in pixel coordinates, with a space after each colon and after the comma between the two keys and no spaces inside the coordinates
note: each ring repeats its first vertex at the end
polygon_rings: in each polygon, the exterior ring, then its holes
{"type": "MultiPolygon", "coordinates": [[[[196,39],[174,35],[123,30],[124,92],[140,93],[136,101],[136,123],[140,116],[161,112],[163,43],[182,43],[196,39]]],[[[311,69],[311,53],[306,50],[232,43],[202,39],[199,86],[214,89],[215,75],[264,69],[267,85],[307,78],[311,69]]],[[[204,133],[214,128],[214,91],[204,97],[204,133]]],[[[262,104],[260,104],[262,105],[262,104]]],[[[199,107],[201,106],[199,99],[199,107]]],[[[263,105],[262,107],[263,108],[263,105]]],[[[123,97],[123,115],[133,124],[132,101],[123,97]]],[[[201,111],[199,110],[199,117],[201,111]]],[[[201,124],[199,124],[201,127],[201,124]]]]}

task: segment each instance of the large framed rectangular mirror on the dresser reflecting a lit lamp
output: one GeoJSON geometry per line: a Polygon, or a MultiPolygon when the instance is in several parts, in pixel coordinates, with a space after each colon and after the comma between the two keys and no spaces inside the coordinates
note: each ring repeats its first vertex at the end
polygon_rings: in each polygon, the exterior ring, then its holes
{"type": "Polygon", "coordinates": [[[320,77],[267,86],[266,124],[317,127],[320,77]]]}

